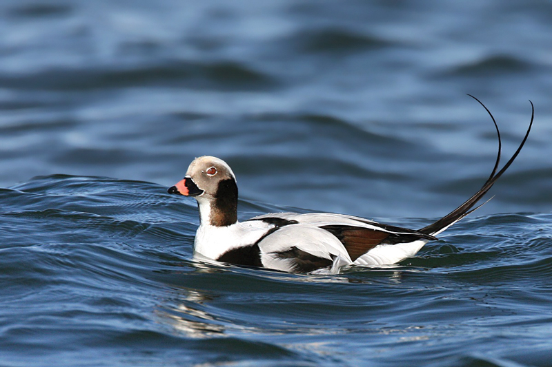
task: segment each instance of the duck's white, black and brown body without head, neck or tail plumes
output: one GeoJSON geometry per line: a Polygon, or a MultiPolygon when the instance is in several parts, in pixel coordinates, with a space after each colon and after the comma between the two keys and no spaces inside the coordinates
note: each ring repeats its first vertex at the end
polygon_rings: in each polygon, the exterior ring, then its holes
{"type": "Polygon", "coordinates": [[[341,214],[269,213],[226,227],[201,224],[195,253],[219,262],[292,273],[326,268],[337,273],[353,264],[395,264],[435,239],[341,214]]]}

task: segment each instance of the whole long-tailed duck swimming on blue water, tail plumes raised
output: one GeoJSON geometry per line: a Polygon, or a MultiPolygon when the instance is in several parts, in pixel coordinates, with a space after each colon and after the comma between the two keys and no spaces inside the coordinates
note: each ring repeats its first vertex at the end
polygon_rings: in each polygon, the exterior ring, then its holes
{"type": "Polygon", "coordinates": [[[533,103],[531,123],[522,143],[498,172],[500,132],[489,109],[483,107],[491,116],[498,136],[498,154],[491,176],[460,207],[422,229],[334,213],[270,213],[238,222],[236,177],[224,160],[213,156],[193,160],[184,179],[170,187],[168,193],[197,200],[200,225],[194,251],[199,257],[290,273],[319,269],[339,273],[349,265],[395,264],[415,255],[424,244],[437,240],[436,235],[480,207],[473,209],[520,153],[533,125],[533,103]]]}

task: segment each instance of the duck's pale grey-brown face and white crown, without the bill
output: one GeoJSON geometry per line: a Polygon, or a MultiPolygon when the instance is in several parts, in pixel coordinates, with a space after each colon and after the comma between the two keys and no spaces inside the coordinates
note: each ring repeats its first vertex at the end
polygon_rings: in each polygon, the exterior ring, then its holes
{"type": "Polygon", "coordinates": [[[214,196],[221,180],[236,180],[234,172],[226,162],[212,156],[195,158],[190,163],[186,176],[192,178],[195,185],[204,191],[201,196],[214,196]]]}

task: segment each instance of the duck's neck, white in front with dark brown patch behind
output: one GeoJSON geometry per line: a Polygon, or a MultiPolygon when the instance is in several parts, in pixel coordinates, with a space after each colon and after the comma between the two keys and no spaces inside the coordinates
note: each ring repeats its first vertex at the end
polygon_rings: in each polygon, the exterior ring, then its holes
{"type": "Polygon", "coordinates": [[[221,180],[213,197],[197,197],[201,225],[227,227],[237,223],[237,185],[233,179],[221,180]]]}

